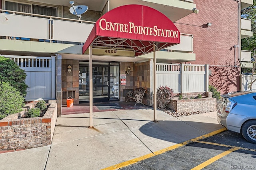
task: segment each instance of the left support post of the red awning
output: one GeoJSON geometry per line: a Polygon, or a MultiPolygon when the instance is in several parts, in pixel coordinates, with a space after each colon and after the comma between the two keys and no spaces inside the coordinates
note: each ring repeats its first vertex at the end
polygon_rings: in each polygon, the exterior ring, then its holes
{"type": "Polygon", "coordinates": [[[92,84],[92,45],[89,46],[89,100],[90,100],[90,126],[89,128],[93,128],[92,124],[92,108],[93,108],[93,102],[92,102],[92,89],[93,89],[93,84],[92,84]]]}

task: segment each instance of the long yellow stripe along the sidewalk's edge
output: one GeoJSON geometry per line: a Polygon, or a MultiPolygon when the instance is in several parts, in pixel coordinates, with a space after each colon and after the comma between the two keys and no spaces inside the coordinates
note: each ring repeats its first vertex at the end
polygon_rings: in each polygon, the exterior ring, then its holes
{"type": "Polygon", "coordinates": [[[147,159],[147,158],[151,158],[151,157],[156,156],[156,155],[158,155],[158,154],[162,154],[162,153],[164,153],[164,152],[167,152],[167,151],[170,151],[170,150],[173,150],[173,149],[177,149],[177,148],[179,148],[179,147],[182,147],[182,146],[184,146],[184,145],[187,145],[188,143],[192,143],[192,142],[198,141],[198,140],[200,140],[200,139],[204,139],[204,138],[206,138],[206,137],[210,137],[210,136],[216,135],[216,134],[221,133],[221,132],[226,131],[226,130],[227,130],[226,128],[222,128],[222,129],[219,129],[219,130],[217,130],[217,131],[213,131],[213,132],[211,132],[211,133],[208,133],[208,134],[206,134],[206,135],[202,135],[202,136],[200,136],[200,137],[196,137],[196,138],[194,138],[194,139],[191,139],[191,140],[188,140],[188,141],[185,141],[185,142],[182,142],[182,143],[173,145],[173,146],[171,146],[171,147],[168,147],[168,148],[165,148],[165,149],[162,149],[162,150],[158,150],[158,151],[156,151],[156,152],[153,152],[153,153],[150,153],[150,154],[146,154],[146,155],[144,155],[144,156],[140,156],[140,157],[138,157],[138,158],[135,158],[135,159],[132,159],[132,160],[128,160],[128,161],[122,162],[122,163],[120,163],[120,164],[115,164],[115,165],[113,165],[113,166],[110,166],[110,167],[108,167],[108,168],[104,168],[104,169],[102,169],[102,170],[116,170],[116,169],[119,169],[119,168],[123,168],[123,167],[125,167],[125,166],[131,165],[131,164],[135,164],[136,162],[145,160],[145,159],[147,159]]]}

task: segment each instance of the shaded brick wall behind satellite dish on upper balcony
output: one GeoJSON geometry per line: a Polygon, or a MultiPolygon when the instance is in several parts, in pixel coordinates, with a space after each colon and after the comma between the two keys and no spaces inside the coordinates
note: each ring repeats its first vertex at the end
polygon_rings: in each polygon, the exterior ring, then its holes
{"type": "MultiPolygon", "coordinates": [[[[63,18],[77,19],[76,15],[73,15],[69,12],[69,8],[70,7],[63,6],[63,18]]],[[[96,22],[99,18],[99,11],[88,10],[84,14],[82,14],[81,20],[96,22]]]]}

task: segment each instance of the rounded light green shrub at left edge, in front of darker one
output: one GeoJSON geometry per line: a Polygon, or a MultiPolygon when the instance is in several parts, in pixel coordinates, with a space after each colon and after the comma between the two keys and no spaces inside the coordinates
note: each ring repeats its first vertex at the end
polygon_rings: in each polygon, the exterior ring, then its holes
{"type": "MultiPolygon", "coordinates": [[[[0,117],[22,111],[24,98],[14,87],[6,82],[0,82],[0,117]]],[[[0,119],[1,119],[0,118],[0,119]]]]}

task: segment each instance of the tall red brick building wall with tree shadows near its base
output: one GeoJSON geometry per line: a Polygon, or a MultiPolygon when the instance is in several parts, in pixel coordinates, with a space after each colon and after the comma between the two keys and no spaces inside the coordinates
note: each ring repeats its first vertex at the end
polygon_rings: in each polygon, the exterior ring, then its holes
{"type": "MultiPolygon", "coordinates": [[[[181,33],[194,35],[196,61],[210,64],[209,84],[221,93],[239,90],[239,69],[234,67],[234,45],[238,44],[238,3],[234,0],[194,0],[198,14],[190,14],[176,22],[181,33]],[[212,23],[207,27],[206,23],[212,23]],[[220,65],[220,66],[219,66],[220,65]]],[[[239,66],[238,58],[236,65],[239,66]]]]}

